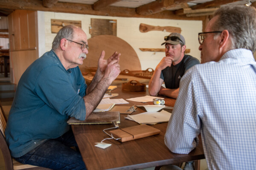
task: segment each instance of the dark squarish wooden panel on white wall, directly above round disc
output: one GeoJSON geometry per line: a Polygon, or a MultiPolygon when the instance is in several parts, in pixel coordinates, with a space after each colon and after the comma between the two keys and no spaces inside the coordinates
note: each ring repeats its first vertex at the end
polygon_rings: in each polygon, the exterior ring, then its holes
{"type": "Polygon", "coordinates": [[[116,36],[116,23],[117,23],[117,20],[91,18],[91,26],[90,26],[91,37],[95,37],[97,35],[116,36]]]}

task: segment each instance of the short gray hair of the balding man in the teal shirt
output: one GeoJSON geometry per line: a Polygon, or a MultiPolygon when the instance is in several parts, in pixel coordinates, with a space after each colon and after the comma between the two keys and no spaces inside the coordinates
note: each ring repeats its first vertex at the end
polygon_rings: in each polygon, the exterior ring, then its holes
{"type": "Polygon", "coordinates": [[[64,26],[63,28],[58,31],[57,35],[55,36],[54,40],[52,41],[52,49],[57,50],[60,46],[61,39],[73,39],[73,33],[74,33],[75,26],[69,25],[64,26]]]}

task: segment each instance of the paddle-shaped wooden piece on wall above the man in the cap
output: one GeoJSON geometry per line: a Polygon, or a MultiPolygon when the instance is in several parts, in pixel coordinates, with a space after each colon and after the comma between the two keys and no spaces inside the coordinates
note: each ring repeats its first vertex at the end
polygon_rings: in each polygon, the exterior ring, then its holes
{"type": "Polygon", "coordinates": [[[172,26],[150,26],[147,24],[140,24],[140,32],[148,32],[148,31],[164,31],[167,32],[177,32],[181,33],[181,28],[172,27],[172,26]]]}

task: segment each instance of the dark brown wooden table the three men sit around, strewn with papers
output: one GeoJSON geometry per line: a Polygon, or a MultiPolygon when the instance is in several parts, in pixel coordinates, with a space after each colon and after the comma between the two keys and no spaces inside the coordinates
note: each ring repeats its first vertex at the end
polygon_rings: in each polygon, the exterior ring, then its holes
{"type": "MultiPolygon", "coordinates": [[[[119,94],[119,96],[114,97],[116,99],[129,99],[148,95],[148,91],[122,91],[120,85],[117,89],[113,90],[113,93],[119,94]]],[[[129,100],[127,101],[130,103],[122,104],[120,106],[153,104],[153,102],[141,103],[129,100]]],[[[165,99],[165,102],[166,105],[174,106],[175,99],[165,99]]],[[[145,111],[137,108],[137,111],[132,113],[132,115],[142,112],[145,111]]],[[[121,123],[119,124],[119,128],[139,125],[136,122],[125,119],[124,116],[126,115],[120,114],[121,123]]],[[[198,147],[192,150],[188,155],[175,154],[172,153],[164,144],[167,122],[150,126],[161,130],[161,133],[159,135],[123,143],[114,139],[105,140],[104,142],[112,144],[110,147],[105,149],[96,147],[95,143],[101,142],[105,138],[109,138],[102,130],[113,127],[113,125],[72,125],[72,129],[88,170],[135,170],[204,159],[204,150],[201,141],[198,147]]]]}

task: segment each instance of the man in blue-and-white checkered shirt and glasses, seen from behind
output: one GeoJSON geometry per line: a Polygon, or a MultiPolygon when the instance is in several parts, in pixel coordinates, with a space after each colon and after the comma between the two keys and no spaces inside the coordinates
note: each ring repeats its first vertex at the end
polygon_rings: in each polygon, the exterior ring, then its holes
{"type": "MultiPolygon", "coordinates": [[[[188,154],[201,133],[210,170],[255,169],[255,9],[222,6],[198,40],[202,64],[181,78],[166,146],[174,153],[188,154]]],[[[173,166],[161,170],[168,168],[173,166]]]]}

